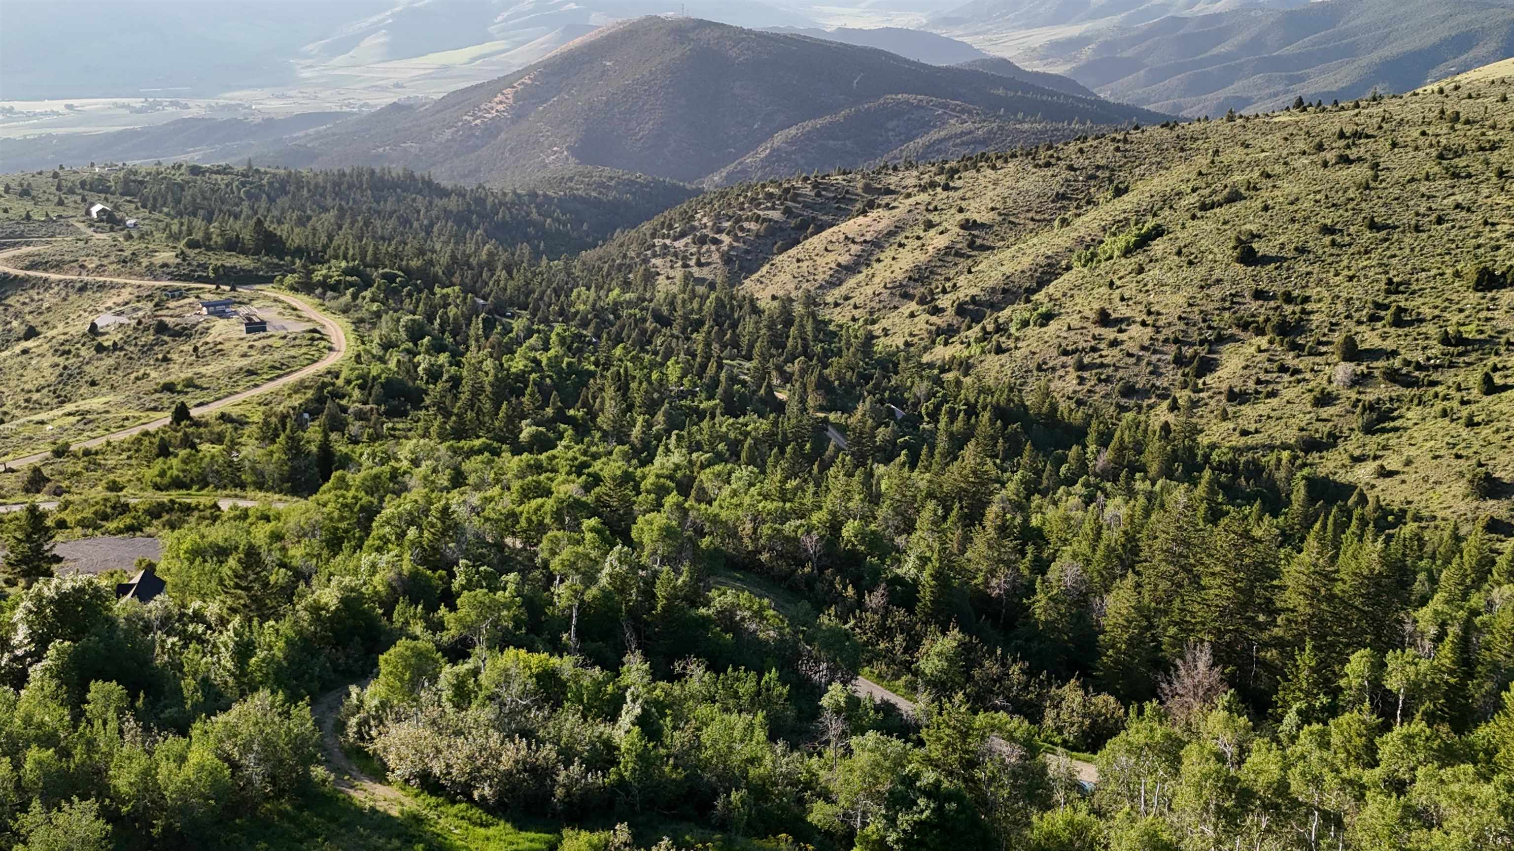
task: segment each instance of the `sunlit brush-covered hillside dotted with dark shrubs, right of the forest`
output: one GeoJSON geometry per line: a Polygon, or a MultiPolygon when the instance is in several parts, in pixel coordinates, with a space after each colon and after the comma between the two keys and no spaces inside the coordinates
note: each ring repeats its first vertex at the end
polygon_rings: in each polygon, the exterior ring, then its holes
{"type": "Polygon", "coordinates": [[[1192,400],[1216,444],[1514,519],[1514,85],[1466,80],[737,186],[603,256],[808,292],[967,374],[1192,400]]]}

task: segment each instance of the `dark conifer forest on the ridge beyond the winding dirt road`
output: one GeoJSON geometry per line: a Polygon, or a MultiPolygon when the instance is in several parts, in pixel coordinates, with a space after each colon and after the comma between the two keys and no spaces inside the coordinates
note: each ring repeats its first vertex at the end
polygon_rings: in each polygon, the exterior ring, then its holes
{"type": "Polygon", "coordinates": [[[309,262],[427,270],[472,285],[483,282],[456,276],[477,276],[519,247],[551,257],[592,248],[693,195],[687,186],[606,170],[571,170],[512,192],[371,168],[188,165],[94,180],[167,217],[162,227],[173,239],[309,262]],[[260,233],[256,247],[242,244],[251,230],[260,233]]]}

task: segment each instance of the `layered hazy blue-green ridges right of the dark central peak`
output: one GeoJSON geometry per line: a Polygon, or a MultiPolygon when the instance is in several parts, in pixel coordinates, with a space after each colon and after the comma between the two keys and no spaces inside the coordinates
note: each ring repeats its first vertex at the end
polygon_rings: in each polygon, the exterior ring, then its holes
{"type": "Polygon", "coordinates": [[[1514,55],[1511,0],[975,0],[930,26],[1193,117],[1399,92],[1514,55]]]}

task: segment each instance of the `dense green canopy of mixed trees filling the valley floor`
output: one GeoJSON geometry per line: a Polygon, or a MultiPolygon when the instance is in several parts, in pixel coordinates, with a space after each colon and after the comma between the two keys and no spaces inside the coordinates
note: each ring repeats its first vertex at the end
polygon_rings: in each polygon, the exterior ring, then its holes
{"type": "MultiPolygon", "coordinates": [[[[251,421],[120,450],[148,488],[291,497],[170,531],[168,595],[6,603],[15,842],[192,845],[298,800],[307,701],[372,677],[341,727],[392,778],[634,825],[565,848],[668,821],[899,851],[1514,843],[1514,550],[1485,524],[1201,444],[1181,395],[1067,404],[807,298],[492,254],[509,224],[395,239],[430,201],[297,224],[407,176],[123,174],[174,239],[289,257],[279,283],[360,347],[251,421]],[[266,218],[227,220],[230,191],[266,218]]],[[[44,519],[8,539],[18,575],[47,575],[44,519]]]]}

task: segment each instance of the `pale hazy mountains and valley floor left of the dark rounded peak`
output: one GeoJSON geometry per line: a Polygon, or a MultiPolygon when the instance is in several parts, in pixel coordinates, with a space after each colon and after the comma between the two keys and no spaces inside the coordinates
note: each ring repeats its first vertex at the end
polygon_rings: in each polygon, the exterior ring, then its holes
{"type": "MultiPolygon", "coordinates": [[[[498,65],[536,42],[680,11],[739,26],[813,24],[763,0],[0,0],[0,100],[362,86],[498,65]]],[[[544,55],[531,53],[495,73],[544,55]]]]}

